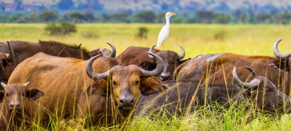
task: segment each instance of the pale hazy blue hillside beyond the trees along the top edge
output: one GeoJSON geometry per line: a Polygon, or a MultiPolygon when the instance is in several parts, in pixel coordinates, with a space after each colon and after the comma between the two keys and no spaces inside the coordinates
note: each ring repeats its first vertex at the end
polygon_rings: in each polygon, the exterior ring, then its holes
{"type": "MultiPolygon", "coordinates": [[[[13,3],[13,0],[0,0],[5,3],[13,3]]],[[[30,4],[47,8],[54,7],[60,0],[23,0],[23,4],[30,4]]],[[[88,1],[97,1],[103,11],[120,10],[154,10],[160,11],[196,11],[212,10],[215,12],[232,13],[233,10],[255,13],[271,13],[291,11],[291,0],[72,0],[75,6],[82,3],[88,5],[88,1]]]]}

